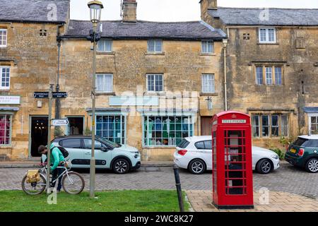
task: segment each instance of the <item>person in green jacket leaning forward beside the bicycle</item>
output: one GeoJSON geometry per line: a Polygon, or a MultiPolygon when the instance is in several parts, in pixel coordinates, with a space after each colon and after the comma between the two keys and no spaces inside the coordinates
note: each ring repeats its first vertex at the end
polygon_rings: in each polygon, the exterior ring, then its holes
{"type": "MultiPolygon", "coordinates": [[[[62,166],[64,162],[64,156],[59,150],[59,148],[55,147],[53,144],[51,144],[51,167],[50,171],[52,172],[52,181],[57,179],[59,175],[63,172],[62,168],[57,168],[58,166],[62,166]]],[[[45,145],[40,145],[38,148],[38,151],[42,155],[47,155],[47,147],[45,145]]],[[[52,187],[55,186],[55,182],[52,183],[52,187]]],[[[61,191],[61,177],[59,178],[59,182],[57,184],[57,192],[61,191]]]]}

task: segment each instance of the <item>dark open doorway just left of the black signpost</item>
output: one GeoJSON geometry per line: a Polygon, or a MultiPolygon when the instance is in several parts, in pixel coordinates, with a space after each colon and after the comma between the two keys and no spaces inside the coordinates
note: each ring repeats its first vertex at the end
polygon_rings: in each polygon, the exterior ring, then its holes
{"type": "Polygon", "coordinates": [[[47,145],[48,117],[31,117],[31,156],[40,157],[37,148],[47,145]]]}

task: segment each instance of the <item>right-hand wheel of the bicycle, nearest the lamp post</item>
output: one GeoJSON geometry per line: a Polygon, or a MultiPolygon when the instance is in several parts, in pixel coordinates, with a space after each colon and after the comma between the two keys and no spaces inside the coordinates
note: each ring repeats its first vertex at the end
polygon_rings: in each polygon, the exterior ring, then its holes
{"type": "Polygon", "coordinates": [[[77,195],[83,191],[85,187],[85,181],[77,172],[69,172],[63,176],[62,186],[66,193],[77,195]]]}

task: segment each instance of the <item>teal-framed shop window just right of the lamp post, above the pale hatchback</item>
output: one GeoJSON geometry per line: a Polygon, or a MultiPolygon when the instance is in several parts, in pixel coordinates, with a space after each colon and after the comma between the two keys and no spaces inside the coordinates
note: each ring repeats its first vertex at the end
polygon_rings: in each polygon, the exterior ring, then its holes
{"type": "Polygon", "coordinates": [[[124,116],[97,116],[96,135],[114,143],[125,144],[126,119],[124,116]]]}

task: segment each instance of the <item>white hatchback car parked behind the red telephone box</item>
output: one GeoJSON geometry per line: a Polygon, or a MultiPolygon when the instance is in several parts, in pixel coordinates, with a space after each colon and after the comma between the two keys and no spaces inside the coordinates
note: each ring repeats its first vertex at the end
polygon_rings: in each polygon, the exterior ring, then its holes
{"type": "MultiPolygon", "coordinates": [[[[279,157],[272,150],[252,147],[253,170],[268,174],[279,167],[279,157]]],[[[175,164],[183,169],[189,169],[193,174],[202,174],[212,170],[211,136],[192,136],[184,138],[174,153],[175,164]]]]}

